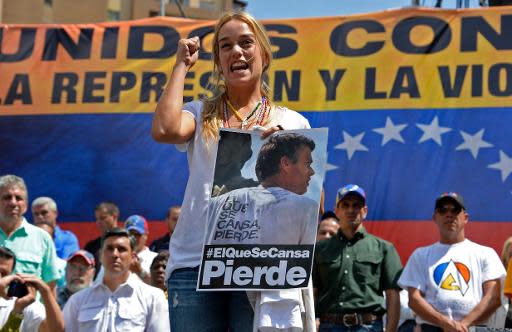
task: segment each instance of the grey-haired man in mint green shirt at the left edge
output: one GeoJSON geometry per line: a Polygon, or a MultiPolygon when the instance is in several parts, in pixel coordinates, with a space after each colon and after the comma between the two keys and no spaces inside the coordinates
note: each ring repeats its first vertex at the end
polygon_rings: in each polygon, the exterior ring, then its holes
{"type": "Polygon", "coordinates": [[[17,255],[15,273],[43,279],[52,289],[59,279],[55,245],[44,230],[23,217],[27,212],[28,192],[25,181],[15,175],[0,177],[0,245],[17,255]]]}

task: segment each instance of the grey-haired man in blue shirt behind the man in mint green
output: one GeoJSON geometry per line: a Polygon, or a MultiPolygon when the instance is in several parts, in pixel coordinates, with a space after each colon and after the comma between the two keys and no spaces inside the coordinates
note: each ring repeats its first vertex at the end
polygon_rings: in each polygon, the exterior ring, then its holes
{"type": "Polygon", "coordinates": [[[67,259],[69,255],[78,251],[78,239],[71,231],[61,229],[57,225],[57,203],[50,197],[38,197],[32,202],[32,216],[34,224],[46,224],[53,228],[53,241],[57,256],[67,259]]]}

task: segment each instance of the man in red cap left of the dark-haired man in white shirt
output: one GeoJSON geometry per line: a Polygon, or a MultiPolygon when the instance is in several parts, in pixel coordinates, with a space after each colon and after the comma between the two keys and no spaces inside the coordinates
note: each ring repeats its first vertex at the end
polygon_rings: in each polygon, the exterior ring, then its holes
{"type": "Polygon", "coordinates": [[[94,256],[85,250],[78,250],[68,258],[66,285],[57,289],[57,302],[61,309],[71,295],[92,285],[95,265],[94,256]]]}

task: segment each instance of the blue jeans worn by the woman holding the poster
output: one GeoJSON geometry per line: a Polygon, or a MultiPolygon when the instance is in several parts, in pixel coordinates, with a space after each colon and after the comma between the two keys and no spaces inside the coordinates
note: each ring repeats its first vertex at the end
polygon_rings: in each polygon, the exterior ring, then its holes
{"type": "Polygon", "coordinates": [[[245,291],[196,291],[199,268],[172,272],[168,287],[172,332],[252,331],[254,311],[245,291]]]}

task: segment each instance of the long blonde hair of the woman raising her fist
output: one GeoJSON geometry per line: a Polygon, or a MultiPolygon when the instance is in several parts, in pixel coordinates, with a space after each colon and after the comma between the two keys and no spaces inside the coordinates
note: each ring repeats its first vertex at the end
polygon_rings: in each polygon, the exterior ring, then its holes
{"type": "Polygon", "coordinates": [[[219,127],[222,123],[223,113],[223,96],[226,92],[226,83],[222,76],[219,59],[219,31],[220,29],[231,20],[238,20],[246,23],[249,28],[254,32],[256,42],[261,50],[261,56],[263,58],[263,73],[261,78],[261,94],[267,100],[270,100],[270,88],[267,84],[268,81],[268,69],[270,62],[272,61],[272,49],[270,46],[270,40],[268,39],[265,28],[259,24],[251,15],[244,12],[230,12],[224,14],[217,25],[212,40],[212,53],[213,53],[213,71],[212,79],[210,80],[208,90],[213,93],[213,96],[207,97],[204,100],[204,110],[202,113],[202,135],[206,142],[210,140],[218,140],[219,127]]]}

